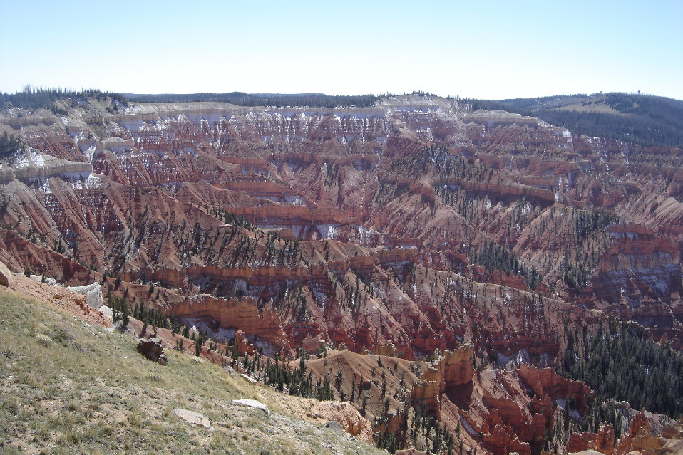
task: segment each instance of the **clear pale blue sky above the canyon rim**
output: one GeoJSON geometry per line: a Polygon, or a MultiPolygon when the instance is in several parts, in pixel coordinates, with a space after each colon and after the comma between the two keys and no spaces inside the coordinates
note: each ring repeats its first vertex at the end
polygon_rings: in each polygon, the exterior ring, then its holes
{"type": "Polygon", "coordinates": [[[0,91],[683,99],[683,2],[0,0],[0,91]]]}

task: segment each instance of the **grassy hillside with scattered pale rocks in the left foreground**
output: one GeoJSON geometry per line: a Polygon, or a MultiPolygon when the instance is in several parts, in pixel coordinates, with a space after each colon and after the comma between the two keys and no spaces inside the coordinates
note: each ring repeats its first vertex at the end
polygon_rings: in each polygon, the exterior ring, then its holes
{"type": "Polygon", "coordinates": [[[149,362],[130,335],[0,289],[0,453],[374,454],[369,444],[287,417],[282,397],[167,350],[149,362]],[[241,407],[258,399],[272,410],[241,407]],[[173,413],[209,417],[211,429],[173,413]]]}

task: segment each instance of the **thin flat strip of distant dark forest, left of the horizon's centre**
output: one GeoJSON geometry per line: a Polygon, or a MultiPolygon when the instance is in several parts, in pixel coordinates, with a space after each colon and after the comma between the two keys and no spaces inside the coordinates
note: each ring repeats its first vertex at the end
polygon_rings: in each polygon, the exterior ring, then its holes
{"type": "Polygon", "coordinates": [[[298,93],[284,95],[280,93],[163,93],[160,95],[142,95],[126,93],[126,98],[138,103],[192,103],[214,101],[230,103],[238,106],[317,106],[334,108],[337,106],[355,106],[369,108],[374,106],[379,97],[375,95],[325,95],[324,93],[298,93]]]}

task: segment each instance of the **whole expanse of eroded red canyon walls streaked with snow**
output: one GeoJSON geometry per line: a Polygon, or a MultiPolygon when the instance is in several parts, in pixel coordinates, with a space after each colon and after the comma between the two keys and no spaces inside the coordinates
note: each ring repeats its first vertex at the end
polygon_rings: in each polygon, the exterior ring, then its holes
{"type": "Polygon", "coordinates": [[[343,346],[337,390],[355,374],[371,417],[389,398],[383,432],[414,402],[466,447],[538,453],[558,403],[591,393],[545,368],[566,328],[618,315],[683,345],[681,150],[416,95],[23,114],[0,115],[26,145],[0,169],[2,261],[103,281],[241,353],[343,346]]]}

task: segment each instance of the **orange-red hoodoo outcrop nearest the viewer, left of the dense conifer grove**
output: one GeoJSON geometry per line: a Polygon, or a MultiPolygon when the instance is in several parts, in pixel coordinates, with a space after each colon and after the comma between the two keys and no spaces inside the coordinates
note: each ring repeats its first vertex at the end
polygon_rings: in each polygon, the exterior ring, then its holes
{"type": "MultiPolygon", "coordinates": [[[[466,450],[476,448],[491,454],[538,454],[560,404],[566,406],[571,400],[572,412],[586,414],[593,392],[582,382],[560,377],[550,368],[538,370],[528,365],[515,371],[476,371],[473,355],[474,345],[465,342],[437,360],[418,365],[418,377],[411,375],[411,406],[425,409],[444,429],[457,434],[455,446],[462,443],[466,450]]],[[[382,362],[391,372],[394,360],[382,362]]],[[[414,367],[410,370],[415,372],[414,367]]],[[[398,375],[405,377],[405,373],[398,375]]],[[[398,375],[394,371],[391,378],[398,375]]],[[[389,380],[390,386],[392,382],[389,380]]],[[[399,415],[411,419],[412,414],[398,412],[396,417],[399,415]]],[[[409,436],[408,422],[395,427],[392,432],[409,436]]],[[[380,427],[379,431],[390,430],[380,427]]]]}

